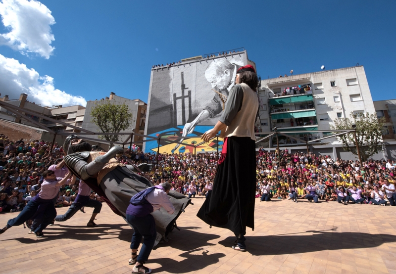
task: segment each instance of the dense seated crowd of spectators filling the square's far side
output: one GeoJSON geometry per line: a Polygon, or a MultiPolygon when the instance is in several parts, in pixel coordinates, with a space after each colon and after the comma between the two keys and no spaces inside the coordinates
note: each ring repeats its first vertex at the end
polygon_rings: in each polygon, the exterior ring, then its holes
{"type": "MultiPolygon", "coordinates": [[[[67,174],[63,148],[44,140],[14,141],[0,134],[0,212],[21,211],[39,191],[45,170],[58,177],[67,174]]],[[[135,164],[152,164],[146,175],[153,183],[169,182],[172,190],[189,197],[204,196],[212,189],[216,174],[216,152],[157,156],[140,150],[126,151],[135,164]]],[[[119,156],[119,157],[118,157],[119,156]]],[[[128,164],[121,155],[117,159],[128,164]]],[[[358,161],[332,159],[313,153],[289,153],[260,148],[256,155],[256,197],[261,201],[306,199],[312,202],[395,205],[395,167],[392,160],[358,161]]],[[[70,206],[78,193],[78,181],[60,188],[57,207],[70,206]]],[[[91,198],[101,201],[96,193],[91,198]]]]}

